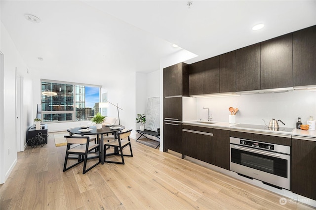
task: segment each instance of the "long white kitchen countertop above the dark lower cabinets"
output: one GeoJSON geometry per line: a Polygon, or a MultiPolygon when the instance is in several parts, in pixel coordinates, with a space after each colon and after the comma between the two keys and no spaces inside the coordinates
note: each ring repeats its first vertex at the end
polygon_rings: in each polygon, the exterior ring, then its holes
{"type": "Polygon", "coordinates": [[[311,141],[316,141],[316,131],[315,130],[301,130],[301,129],[294,129],[292,132],[283,132],[283,131],[273,131],[273,130],[261,130],[261,129],[254,129],[254,128],[242,128],[242,127],[235,127],[236,124],[230,124],[228,122],[216,122],[216,121],[210,121],[211,124],[208,124],[208,121],[201,121],[197,122],[198,120],[192,120],[192,121],[183,121],[183,123],[191,124],[191,125],[197,125],[197,126],[203,126],[203,127],[212,127],[212,128],[222,128],[227,130],[236,130],[236,131],[252,131],[255,133],[263,133],[268,135],[284,135],[292,138],[298,138],[298,139],[306,139],[311,141]],[[204,123],[203,123],[204,122],[204,123]]]}

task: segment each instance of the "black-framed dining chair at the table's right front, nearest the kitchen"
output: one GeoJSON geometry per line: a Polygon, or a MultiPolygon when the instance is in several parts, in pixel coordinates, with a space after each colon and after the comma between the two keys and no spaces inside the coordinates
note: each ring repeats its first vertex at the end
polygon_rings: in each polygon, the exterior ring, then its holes
{"type": "Polygon", "coordinates": [[[130,144],[130,138],[129,138],[131,131],[132,131],[132,129],[124,131],[124,132],[118,132],[117,139],[114,139],[114,140],[109,141],[109,142],[104,142],[104,162],[125,164],[124,163],[124,156],[129,156],[129,157],[133,156],[132,146],[130,144]],[[130,154],[123,154],[123,149],[127,146],[129,146],[130,154]],[[106,147],[110,147],[110,148],[113,147],[114,152],[107,154],[106,147]],[[110,155],[119,155],[121,157],[121,162],[107,160],[106,157],[110,156],[110,155]]]}

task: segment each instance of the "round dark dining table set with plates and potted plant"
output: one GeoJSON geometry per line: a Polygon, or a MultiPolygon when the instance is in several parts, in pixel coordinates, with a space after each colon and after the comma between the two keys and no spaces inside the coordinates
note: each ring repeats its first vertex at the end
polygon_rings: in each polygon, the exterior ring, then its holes
{"type": "Polygon", "coordinates": [[[103,142],[103,134],[108,134],[108,133],[114,133],[115,137],[117,133],[123,129],[125,129],[125,126],[123,125],[111,125],[111,126],[106,126],[103,125],[101,129],[96,129],[96,126],[90,126],[92,130],[89,132],[81,132],[81,127],[75,127],[69,130],[70,135],[73,134],[79,134],[79,135],[97,135],[97,140],[99,140],[99,135],[101,135],[100,138],[100,150],[101,150],[101,164],[104,164],[104,142],[103,142]],[[120,127],[117,129],[111,129],[111,127],[120,127]]]}

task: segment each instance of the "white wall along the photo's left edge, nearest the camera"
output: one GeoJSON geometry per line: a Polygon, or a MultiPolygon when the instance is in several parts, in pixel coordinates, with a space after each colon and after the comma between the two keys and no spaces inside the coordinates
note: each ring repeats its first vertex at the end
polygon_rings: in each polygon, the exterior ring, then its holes
{"type": "MultiPolygon", "coordinates": [[[[13,41],[4,26],[1,28],[1,49],[4,55],[4,72],[3,72],[3,134],[1,135],[1,182],[4,182],[10,175],[14,165],[17,162],[17,142],[16,142],[16,126],[15,126],[15,69],[18,69],[20,75],[24,75],[22,69],[26,69],[26,65],[20,57],[13,41]],[[4,175],[4,177],[3,177],[4,175]]],[[[26,79],[28,81],[28,79],[26,79]]],[[[25,93],[24,93],[25,94],[25,93]]],[[[32,97],[32,96],[31,96],[32,97]]],[[[2,106],[2,104],[0,104],[2,106]]],[[[26,124],[24,122],[24,124],[26,124]]],[[[22,131],[26,133],[26,128],[22,131]]]]}

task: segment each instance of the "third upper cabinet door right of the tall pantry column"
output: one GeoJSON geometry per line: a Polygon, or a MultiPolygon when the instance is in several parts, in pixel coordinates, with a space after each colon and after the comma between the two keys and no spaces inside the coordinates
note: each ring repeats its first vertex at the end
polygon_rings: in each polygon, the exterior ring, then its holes
{"type": "Polygon", "coordinates": [[[236,91],[235,51],[219,56],[219,92],[236,91]]]}

